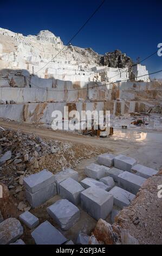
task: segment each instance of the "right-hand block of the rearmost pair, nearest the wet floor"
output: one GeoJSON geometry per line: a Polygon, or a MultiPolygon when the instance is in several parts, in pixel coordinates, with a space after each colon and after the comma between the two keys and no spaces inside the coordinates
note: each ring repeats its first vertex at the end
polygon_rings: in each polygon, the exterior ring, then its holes
{"type": "Polygon", "coordinates": [[[119,155],[114,158],[114,167],[126,170],[127,172],[131,172],[132,166],[136,163],[137,161],[129,156],[119,155]]]}

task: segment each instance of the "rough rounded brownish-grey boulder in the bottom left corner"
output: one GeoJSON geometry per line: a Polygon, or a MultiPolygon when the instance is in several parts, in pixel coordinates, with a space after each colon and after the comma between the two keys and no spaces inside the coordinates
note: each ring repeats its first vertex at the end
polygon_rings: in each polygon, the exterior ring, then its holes
{"type": "Polygon", "coordinates": [[[15,242],[23,235],[23,227],[16,218],[8,218],[0,223],[0,245],[15,242]]]}

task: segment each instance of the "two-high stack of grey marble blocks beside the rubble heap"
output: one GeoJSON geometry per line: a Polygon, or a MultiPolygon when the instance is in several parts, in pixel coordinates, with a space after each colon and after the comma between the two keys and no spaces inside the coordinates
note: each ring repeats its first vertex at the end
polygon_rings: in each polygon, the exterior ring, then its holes
{"type": "Polygon", "coordinates": [[[25,196],[32,208],[57,194],[54,174],[44,169],[24,178],[25,196]]]}

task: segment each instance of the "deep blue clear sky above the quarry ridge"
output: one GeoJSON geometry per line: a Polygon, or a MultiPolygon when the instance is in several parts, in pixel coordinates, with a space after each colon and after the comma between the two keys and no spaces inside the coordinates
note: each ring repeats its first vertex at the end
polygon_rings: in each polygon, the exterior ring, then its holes
{"type": "MultiPolygon", "coordinates": [[[[76,33],[101,0],[1,0],[0,27],[24,35],[48,29],[64,44],[76,33]]],[[[157,51],[162,42],[162,1],[109,1],[73,40],[80,47],[92,47],[101,54],[116,48],[134,61],[157,51]]],[[[142,64],[149,72],[162,69],[157,54],[142,64]]],[[[162,78],[162,72],[156,77],[162,78]]]]}

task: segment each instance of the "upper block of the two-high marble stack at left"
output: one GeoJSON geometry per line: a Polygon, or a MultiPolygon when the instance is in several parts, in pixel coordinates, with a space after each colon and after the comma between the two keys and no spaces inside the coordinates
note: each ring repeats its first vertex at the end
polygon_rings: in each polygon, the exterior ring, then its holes
{"type": "Polygon", "coordinates": [[[42,188],[54,183],[54,174],[47,169],[43,169],[39,173],[31,174],[27,178],[24,178],[23,181],[26,190],[30,193],[36,193],[42,190],[42,188]]]}

